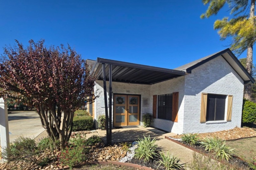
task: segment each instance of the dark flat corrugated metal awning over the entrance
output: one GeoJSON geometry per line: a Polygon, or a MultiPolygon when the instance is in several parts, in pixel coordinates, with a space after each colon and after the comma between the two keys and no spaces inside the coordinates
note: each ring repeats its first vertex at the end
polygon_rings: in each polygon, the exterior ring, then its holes
{"type": "Polygon", "coordinates": [[[109,77],[108,70],[110,64],[112,65],[112,81],[116,82],[151,85],[186,74],[185,71],[97,58],[95,65],[92,67],[92,71],[97,74],[99,80],[103,80],[103,63],[105,64],[105,68],[107,70],[107,81],[109,77]]]}

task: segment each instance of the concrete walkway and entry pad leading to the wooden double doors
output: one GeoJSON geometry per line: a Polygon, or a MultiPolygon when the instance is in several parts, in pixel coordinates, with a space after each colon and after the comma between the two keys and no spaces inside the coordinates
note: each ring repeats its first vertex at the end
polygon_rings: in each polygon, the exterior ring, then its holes
{"type": "MultiPolygon", "coordinates": [[[[97,130],[99,136],[106,142],[106,130],[97,130]]],[[[162,148],[164,152],[169,151],[175,157],[180,158],[181,163],[190,164],[193,160],[192,150],[181,146],[177,143],[174,143],[168,139],[165,139],[165,136],[175,136],[175,133],[166,133],[155,128],[145,128],[143,126],[136,126],[129,128],[129,126],[121,129],[112,129],[112,142],[127,142],[137,140],[138,137],[149,136],[156,138],[156,144],[162,148]]]]}

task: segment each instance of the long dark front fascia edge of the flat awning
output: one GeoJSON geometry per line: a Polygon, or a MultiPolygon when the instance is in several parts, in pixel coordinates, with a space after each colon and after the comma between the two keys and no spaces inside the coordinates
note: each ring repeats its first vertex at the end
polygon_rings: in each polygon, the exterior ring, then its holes
{"type": "Polygon", "coordinates": [[[108,60],[108,59],[102,59],[102,58],[97,58],[97,63],[113,64],[113,65],[117,65],[117,66],[133,67],[133,68],[139,68],[139,69],[145,69],[145,70],[161,71],[161,72],[166,72],[166,73],[175,73],[175,74],[179,74],[179,75],[186,74],[185,71],[172,70],[172,69],[153,67],[153,66],[146,66],[146,65],[142,65],[142,64],[127,63],[127,62],[108,60]]]}

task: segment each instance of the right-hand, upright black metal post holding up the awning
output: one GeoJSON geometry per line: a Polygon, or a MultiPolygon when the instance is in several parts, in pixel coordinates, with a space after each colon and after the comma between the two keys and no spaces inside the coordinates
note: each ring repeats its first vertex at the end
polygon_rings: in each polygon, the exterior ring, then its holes
{"type": "Polygon", "coordinates": [[[112,144],[112,64],[109,64],[109,143],[112,144]]]}

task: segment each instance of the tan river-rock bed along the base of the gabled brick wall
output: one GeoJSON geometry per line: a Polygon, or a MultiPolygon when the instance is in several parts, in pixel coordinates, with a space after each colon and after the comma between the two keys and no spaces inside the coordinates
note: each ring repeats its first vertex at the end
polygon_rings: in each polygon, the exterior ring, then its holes
{"type": "MultiPolygon", "coordinates": [[[[183,135],[171,136],[175,139],[180,139],[183,135]]],[[[199,138],[216,137],[222,140],[240,139],[246,137],[256,136],[256,130],[254,128],[233,128],[229,130],[223,130],[218,132],[199,133],[199,138]]]]}

